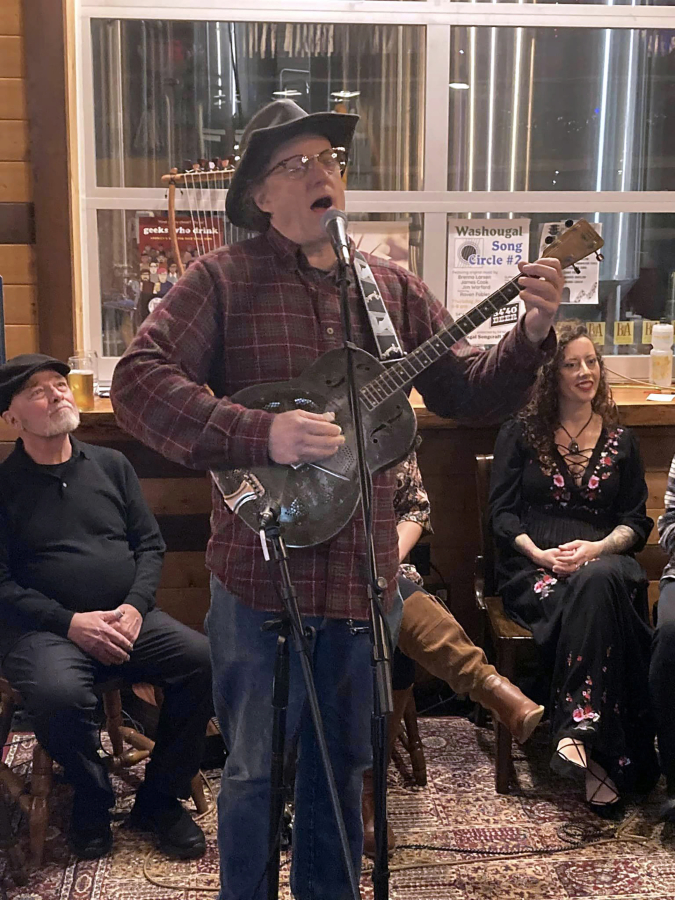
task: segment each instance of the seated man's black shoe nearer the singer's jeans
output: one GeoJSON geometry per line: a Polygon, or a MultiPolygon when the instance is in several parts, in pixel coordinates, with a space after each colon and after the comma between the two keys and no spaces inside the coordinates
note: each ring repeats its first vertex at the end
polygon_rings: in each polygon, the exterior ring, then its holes
{"type": "Polygon", "coordinates": [[[180,800],[141,786],[129,826],[156,834],[159,849],[176,859],[197,859],[206,852],[204,832],[180,800]]]}

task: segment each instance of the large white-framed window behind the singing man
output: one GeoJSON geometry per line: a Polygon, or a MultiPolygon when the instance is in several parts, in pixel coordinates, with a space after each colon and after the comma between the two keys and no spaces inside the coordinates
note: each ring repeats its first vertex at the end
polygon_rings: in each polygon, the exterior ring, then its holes
{"type": "MultiPolygon", "coordinates": [[[[311,13],[137,0],[120,18],[119,0],[82,0],[84,324],[102,378],[143,318],[141,295],[174,277],[162,176],[236,162],[246,122],[274,97],[359,113],[352,231],[449,305],[449,220],[527,220],[531,256],[544,226],[599,222],[597,302],[562,315],[593,322],[616,365],[643,375],[650,323],[675,318],[675,6],[647,6],[540,0],[535,18],[528,0],[315,0],[311,13]]],[[[203,208],[218,240],[238,240],[223,196],[203,208]]],[[[190,234],[187,192],[177,208],[189,262],[204,239],[190,234]]]]}

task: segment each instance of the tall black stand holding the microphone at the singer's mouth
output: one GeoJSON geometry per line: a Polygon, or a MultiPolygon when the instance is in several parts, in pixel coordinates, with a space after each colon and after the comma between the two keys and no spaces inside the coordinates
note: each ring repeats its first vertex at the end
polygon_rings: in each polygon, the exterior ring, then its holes
{"type": "Polygon", "coordinates": [[[373,867],[374,900],[389,897],[389,854],[387,846],[387,721],[394,704],[391,687],[391,655],[387,623],[380,597],[387,587],[386,579],[377,574],[375,547],[372,536],[372,480],[366,464],[366,447],[363,435],[363,418],[356,381],[354,353],[359,348],[352,341],[349,315],[350,269],[342,248],[332,241],[338,260],[337,283],[340,288],[340,308],[347,356],[347,391],[349,408],[354,425],[357,451],[357,469],[361,487],[361,511],[368,556],[367,594],[370,606],[370,638],[373,667],[373,713],[370,736],[373,745],[373,796],[375,806],[375,862],[373,867]]]}

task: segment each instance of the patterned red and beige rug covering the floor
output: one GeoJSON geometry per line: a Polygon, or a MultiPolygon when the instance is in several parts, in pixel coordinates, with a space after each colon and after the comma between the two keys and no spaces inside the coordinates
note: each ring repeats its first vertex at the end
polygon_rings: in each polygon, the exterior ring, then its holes
{"type": "MultiPolygon", "coordinates": [[[[619,829],[604,823],[582,802],[581,787],[548,769],[544,730],[525,751],[515,751],[517,784],[509,796],[494,792],[491,731],[460,718],[422,719],[429,784],[412,785],[405,765],[389,772],[390,820],[399,850],[391,860],[392,900],[672,900],[675,897],[675,836],[657,822],[662,794],[631,807],[619,829]],[[579,846],[574,842],[579,841],[579,846]],[[429,848],[429,849],[425,849],[429,848]],[[515,857],[515,858],[514,858],[515,857]]],[[[25,765],[30,746],[10,751],[12,765],[25,765]]],[[[126,829],[124,820],[142,768],[130,781],[116,779],[115,849],[95,862],[68,855],[62,827],[70,792],[53,794],[47,860],[17,888],[5,875],[8,900],[212,900],[218,890],[215,815],[201,825],[206,856],[173,862],[155,852],[148,836],[126,829]]],[[[209,780],[217,784],[218,773],[209,780]]],[[[23,828],[23,826],[21,826],[23,828]]],[[[23,832],[22,832],[23,833],[23,832]]],[[[0,860],[0,872],[4,859],[0,860]]],[[[289,900],[288,861],[282,897],[289,900]]],[[[371,900],[367,869],[364,900],[371,900]]]]}

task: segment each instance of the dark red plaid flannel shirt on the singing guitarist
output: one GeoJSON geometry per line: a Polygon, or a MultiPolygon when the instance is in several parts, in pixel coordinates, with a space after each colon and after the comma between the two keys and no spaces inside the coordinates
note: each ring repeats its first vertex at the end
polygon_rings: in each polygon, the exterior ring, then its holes
{"type": "MultiPolygon", "coordinates": [[[[406,351],[450,321],[419,278],[376,257],[369,263],[406,351]]],[[[355,285],[351,301],[353,340],[375,353],[355,285]]],[[[272,414],[228,398],[249,385],[297,377],[341,346],[334,273],[310,267],[298,245],[271,228],[188,268],[119,362],[112,402],[123,428],[175,462],[199,469],[263,466],[272,414]]],[[[522,404],[554,347],[553,333],[535,347],[521,323],[488,351],[459,342],[415,386],[439,415],[494,419],[522,404]]],[[[398,568],[394,488],[393,471],[373,479],[375,553],[389,585],[385,605],[398,568]]],[[[230,514],[215,486],[211,532],[208,568],[251,608],[278,610],[258,535],[230,514]]],[[[358,514],[329,543],[289,555],[303,614],[367,618],[358,514]]]]}

